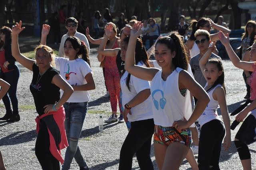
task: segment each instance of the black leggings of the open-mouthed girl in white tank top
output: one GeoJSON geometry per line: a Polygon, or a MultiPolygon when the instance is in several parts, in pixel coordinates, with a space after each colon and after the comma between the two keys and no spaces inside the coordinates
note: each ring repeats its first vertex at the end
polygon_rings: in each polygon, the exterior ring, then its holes
{"type": "Polygon", "coordinates": [[[198,148],[199,170],[220,170],[220,150],[224,135],[224,124],[220,120],[214,119],[202,126],[198,148]]]}

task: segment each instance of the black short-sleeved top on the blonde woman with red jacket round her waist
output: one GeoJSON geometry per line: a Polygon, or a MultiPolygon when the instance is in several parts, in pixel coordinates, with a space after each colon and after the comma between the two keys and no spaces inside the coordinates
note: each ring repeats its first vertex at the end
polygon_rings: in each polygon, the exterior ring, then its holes
{"type": "Polygon", "coordinates": [[[30,92],[34,97],[36,111],[39,115],[44,114],[44,106],[55,104],[60,100],[60,88],[52,84],[52,78],[59,74],[57,70],[50,67],[42,75],[39,74],[39,68],[33,65],[33,78],[30,84],[30,92]]]}

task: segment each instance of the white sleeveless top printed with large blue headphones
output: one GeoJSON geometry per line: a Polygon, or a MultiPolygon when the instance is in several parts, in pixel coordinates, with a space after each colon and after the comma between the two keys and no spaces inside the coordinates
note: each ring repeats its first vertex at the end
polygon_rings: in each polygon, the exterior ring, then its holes
{"type": "MultiPolygon", "coordinates": [[[[179,73],[182,68],[177,67],[166,81],[162,79],[162,70],[159,70],[151,81],[152,110],[156,125],[169,127],[174,121],[188,120],[192,114],[190,92],[182,96],[179,90],[179,73]]],[[[184,70],[186,72],[186,70],[184,70]]]]}

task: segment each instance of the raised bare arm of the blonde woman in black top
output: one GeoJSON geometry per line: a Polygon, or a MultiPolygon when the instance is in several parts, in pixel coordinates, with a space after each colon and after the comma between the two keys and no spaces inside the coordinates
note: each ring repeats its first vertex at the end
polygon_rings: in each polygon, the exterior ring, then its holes
{"type": "Polygon", "coordinates": [[[32,71],[33,64],[36,62],[35,60],[31,60],[26,58],[22,54],[20,54],[20,48],[18,44],[18,34],[25,29],[25,27],[21,27],[22,21],[12,26],[12,56],[24,67],[28,68],[28,70],[32,71]]]}

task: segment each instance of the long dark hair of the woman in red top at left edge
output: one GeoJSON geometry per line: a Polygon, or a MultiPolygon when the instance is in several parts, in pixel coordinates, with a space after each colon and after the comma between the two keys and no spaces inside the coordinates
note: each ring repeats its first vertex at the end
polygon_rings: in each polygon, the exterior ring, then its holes
{"type": "Polygon", "coordinates": [[[3,42],[3,41],[0,42],[0,48],[4,48],[5,56],[12,56],[12,48],[11,48],[12,30],[11,30],[11,28],[9,28],[7,26],[3,26],[0,28],[0,33],[3,33],[5,35],[5,42],[3,42]]]}

